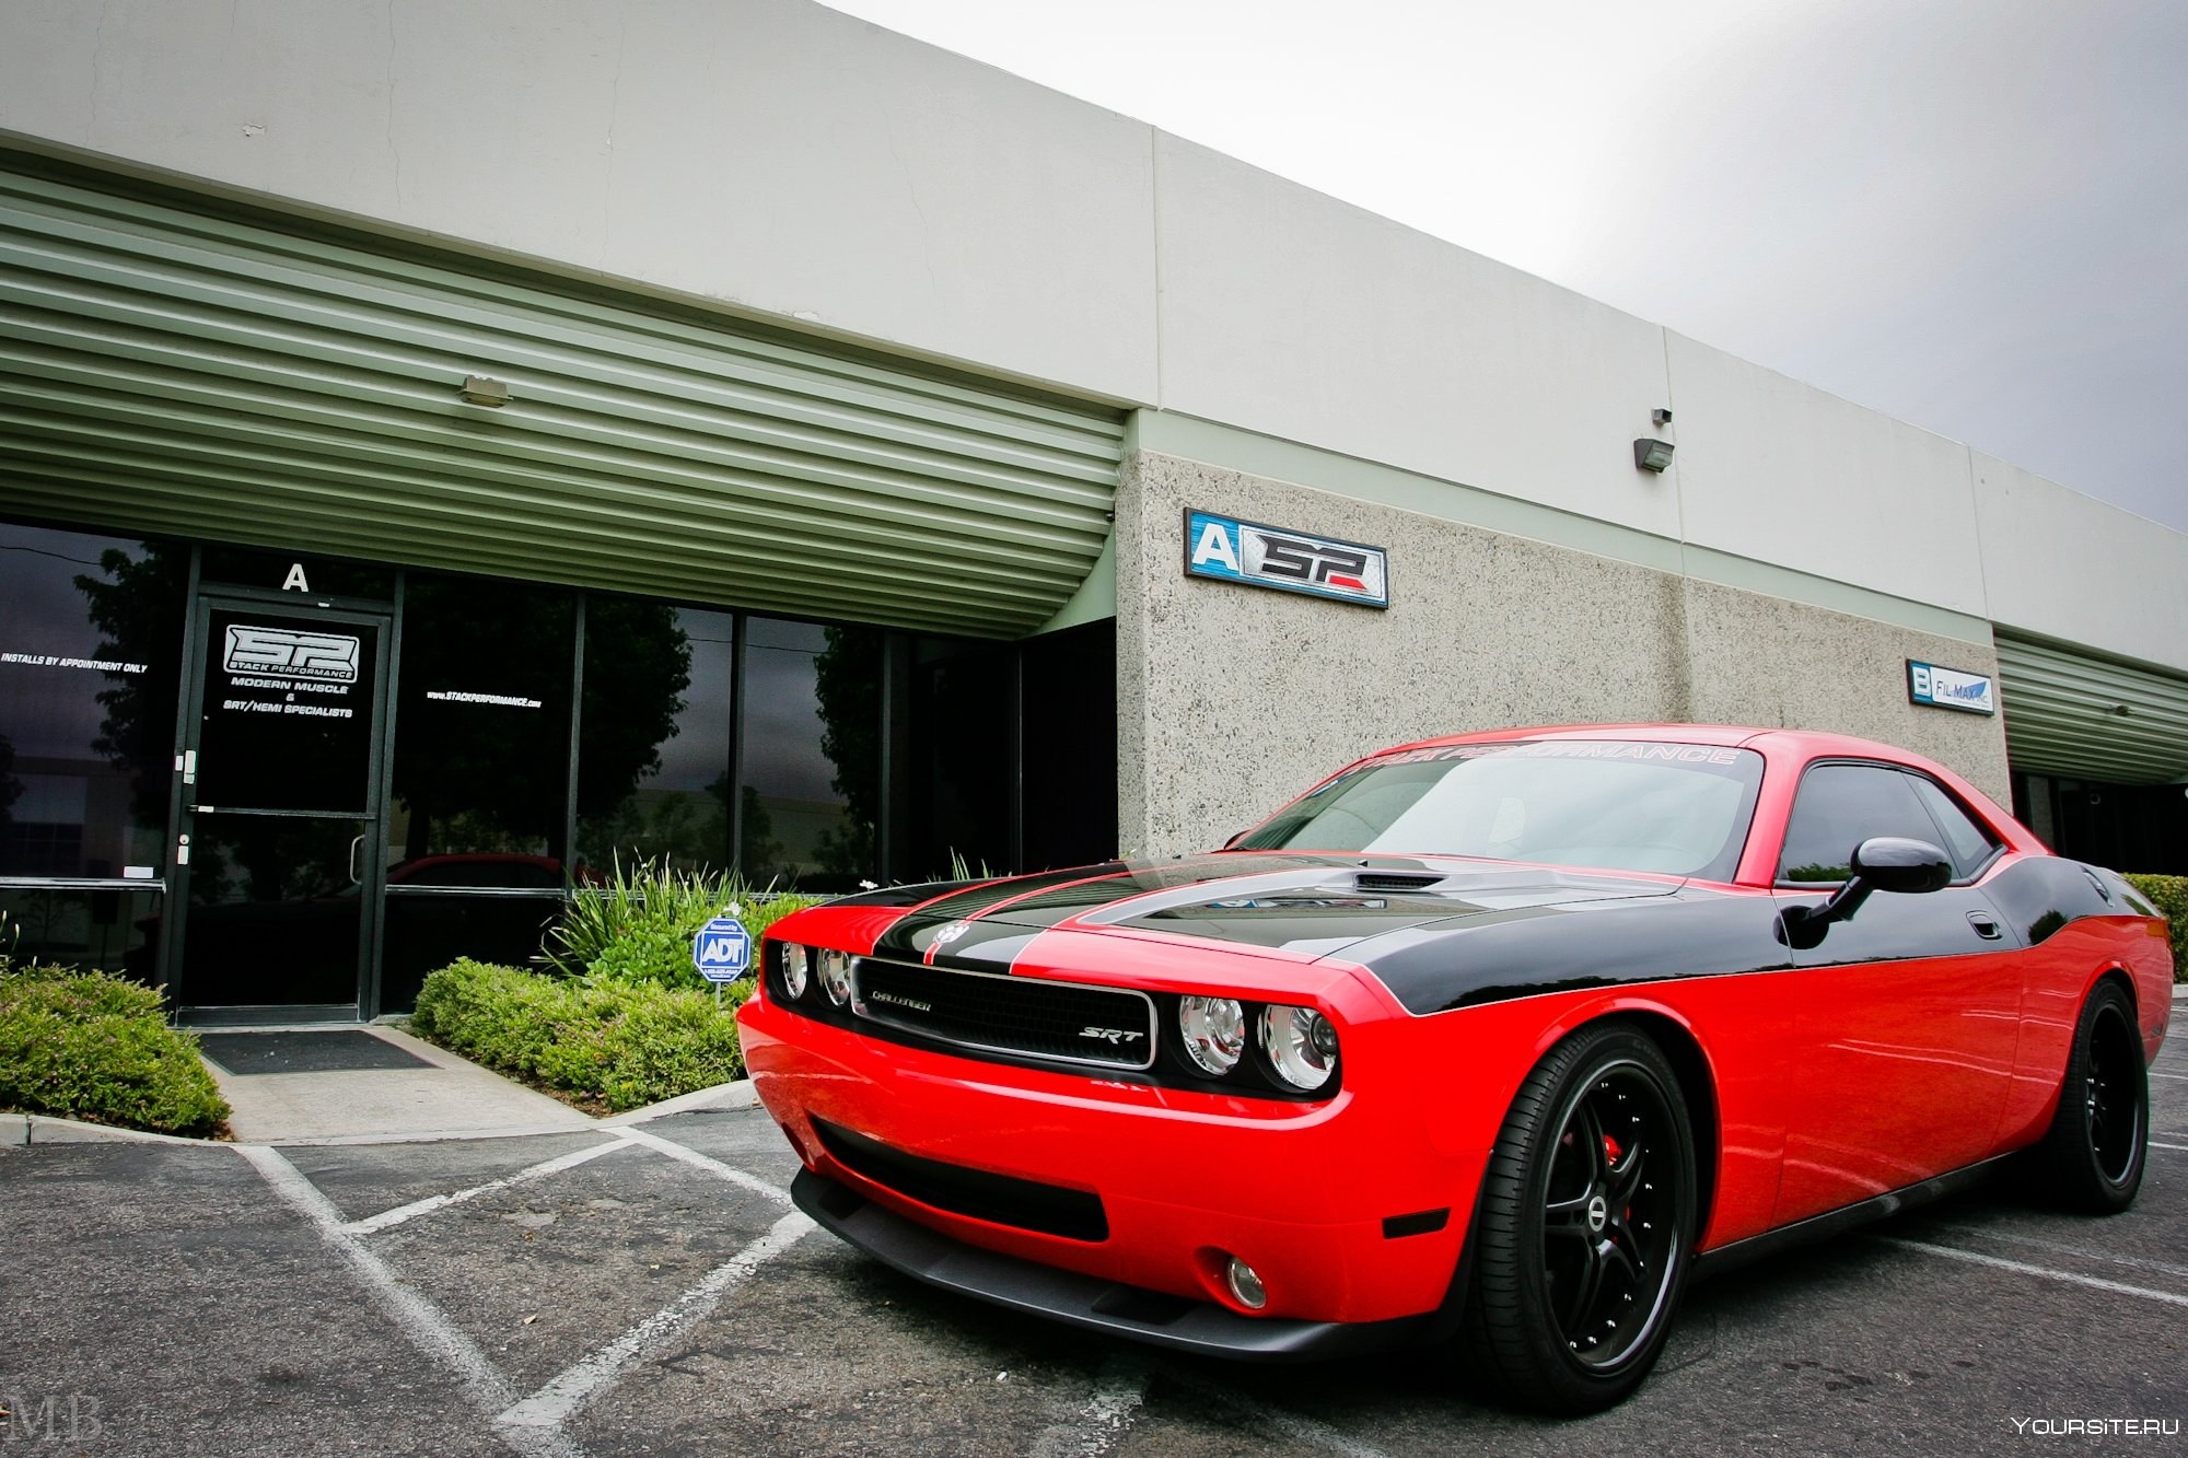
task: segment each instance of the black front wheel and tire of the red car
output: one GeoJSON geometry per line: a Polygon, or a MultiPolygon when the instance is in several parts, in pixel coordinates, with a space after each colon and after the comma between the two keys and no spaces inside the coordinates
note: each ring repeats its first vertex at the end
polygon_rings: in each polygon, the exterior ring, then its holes
{"type": "Polygon", "coordinates": [[[1580,1029],[1512,1099],[1481,1187],[1464,1353],[1479,1390],[1597,1412],[1641,1386],[1700,1237],[1694,1121],[1663,1051],[1580,1029]]]}

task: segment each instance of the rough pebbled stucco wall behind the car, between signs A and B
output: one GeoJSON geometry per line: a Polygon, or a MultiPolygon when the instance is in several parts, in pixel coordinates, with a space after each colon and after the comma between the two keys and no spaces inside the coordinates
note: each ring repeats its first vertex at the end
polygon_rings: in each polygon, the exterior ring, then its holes
{"type": "Polygon", "coordinates": [[[1904,661],[1987,646],[1138,451],[1118,493],[1122,849],[1223,841],[1348,760],[1503,725],[1842,729],[2006,790],[1993,718],[1906,703],[1904,661]],[[1206,508],[1392,554],[1389,611],[1184,576],[1206,508]]]}

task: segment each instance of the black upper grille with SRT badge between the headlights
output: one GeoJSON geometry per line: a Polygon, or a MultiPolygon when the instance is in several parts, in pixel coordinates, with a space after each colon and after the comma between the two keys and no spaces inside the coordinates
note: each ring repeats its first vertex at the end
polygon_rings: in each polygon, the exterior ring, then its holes
{"type": "Polygon", "coordinates": [[[1144,992],[871,957],[853,974],[851,1007],[869,1022],[987,1053],[1096,1068],[1155,1064],[1155,1003],[1144,992]]]}

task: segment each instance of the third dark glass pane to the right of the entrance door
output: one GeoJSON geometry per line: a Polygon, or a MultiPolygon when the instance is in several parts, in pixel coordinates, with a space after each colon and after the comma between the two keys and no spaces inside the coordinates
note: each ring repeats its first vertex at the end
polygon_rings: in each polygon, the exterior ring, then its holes
{"type": "Polygon", "coordinates": [[[845,891],[873,876],[882,650],[877,628],[746,620],[737,865],[748,880],[845,891]]]}

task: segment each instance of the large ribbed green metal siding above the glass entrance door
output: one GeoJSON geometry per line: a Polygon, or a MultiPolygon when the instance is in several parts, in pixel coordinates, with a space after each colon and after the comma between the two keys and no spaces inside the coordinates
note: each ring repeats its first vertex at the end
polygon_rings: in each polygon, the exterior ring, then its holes
{"type": "Polygon", "coordinates": [[[1114,409],[7,171],[0,412],[13,512],[993,637],[1122,455],[1114,409]]]}

